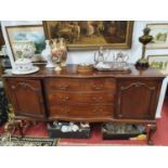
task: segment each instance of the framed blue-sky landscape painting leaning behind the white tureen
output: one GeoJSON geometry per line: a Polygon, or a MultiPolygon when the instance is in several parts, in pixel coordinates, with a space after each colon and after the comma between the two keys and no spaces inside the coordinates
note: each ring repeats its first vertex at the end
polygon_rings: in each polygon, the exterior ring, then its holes
{"type": "Polygon", "coordinates": [[[46,36],[42,25],[7,26],[5,30],[14,61],[18,59],[14,51],[14,46],[16,43],[31,42],[35,46],[33,62],[44,62],[41,56],[41,52],[46,48],[46,36]]]}

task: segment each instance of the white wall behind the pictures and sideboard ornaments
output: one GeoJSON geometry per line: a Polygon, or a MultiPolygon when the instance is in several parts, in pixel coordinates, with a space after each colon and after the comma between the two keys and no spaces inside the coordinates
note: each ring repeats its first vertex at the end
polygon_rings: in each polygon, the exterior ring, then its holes
{"type": "MultiPolygon", "coordinates": [[[[145,27],[146,24],[148,23],[168,23],[165,21],[137,21],[134,22],[134,28],[133,28],[133,36],[132,36],[132,47],[129,50],[122,50],[124,52],[127,52],[129,54],[129,62],[134,63],[140,56],[142,52],[142,46],[139,42],[139,37],[143,34],[143,28],[145,27]]],[[[9,46],[9,41],[7,38],[7,33],[5,33],[5,26],[14,26],[14,25],[34,25],[34,24],[42,24],[41,21],[2,21],[2,31],[4,36],[4,40],[8,47],[8,52],[9,56],[11,59],[12,65],[13,65],[13,56],[12,52],[9,46]]],[[[119,50],[112,50],[111,52],[118,52],[119,50]]],[[[74,51],[74,52],[68,52],[67,56],[67,64],[79,64],[79,63],[93,63],[93,52],[94,51],[74,51]]],[[[147,54],[168,54],[168,49],[157,49],[157,50],[148,50],[146,51],[147,54]]]]}

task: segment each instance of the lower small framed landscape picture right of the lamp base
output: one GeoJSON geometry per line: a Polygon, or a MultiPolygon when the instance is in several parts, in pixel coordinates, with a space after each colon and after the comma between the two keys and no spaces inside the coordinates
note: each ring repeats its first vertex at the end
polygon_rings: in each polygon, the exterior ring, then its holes
{"type": "Polygon", "coordinates": [[[164,70],[168,68],[168,54],[164,55],[148,55],[148,63],[152,67],[164,70]]]}

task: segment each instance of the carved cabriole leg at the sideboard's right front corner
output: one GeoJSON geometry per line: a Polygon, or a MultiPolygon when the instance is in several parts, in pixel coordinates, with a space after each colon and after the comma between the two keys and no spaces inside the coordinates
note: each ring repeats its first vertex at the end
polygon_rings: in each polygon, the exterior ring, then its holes
{"type": "Polygon", "coordinates": [[[153,145],[152,135],[156,132],[156,124],[147,125],[147,144],[153,145]]]}

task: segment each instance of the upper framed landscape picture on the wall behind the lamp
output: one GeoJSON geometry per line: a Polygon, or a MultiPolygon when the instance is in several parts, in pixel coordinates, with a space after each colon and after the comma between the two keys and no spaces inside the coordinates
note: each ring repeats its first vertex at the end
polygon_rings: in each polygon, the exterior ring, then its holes
{"type": "Polygon", "coordinates": [[[147,24],[151,28],[150,35],[153,36],[147,49],[168,49],[168,24],[147,24]]]}

